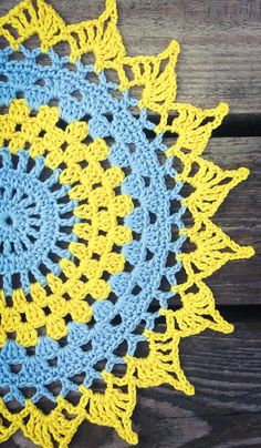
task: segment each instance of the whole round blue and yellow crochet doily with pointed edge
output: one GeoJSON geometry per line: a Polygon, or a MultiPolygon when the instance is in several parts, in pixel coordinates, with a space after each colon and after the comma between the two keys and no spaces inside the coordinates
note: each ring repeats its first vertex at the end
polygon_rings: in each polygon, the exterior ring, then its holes
{"type": "Polygon", "coordinates": [[[228,105],[175,102],[178,43],[132,58],[116,23],[114,0],[75,26],[43,0],[0,19],[1,441],[66,447],[88,419],[136,444],[137,388],[194,394],[180,338],[232,330],[205,278],[253,254],[211,222],[249,172],[201,157],[228,105]]]}

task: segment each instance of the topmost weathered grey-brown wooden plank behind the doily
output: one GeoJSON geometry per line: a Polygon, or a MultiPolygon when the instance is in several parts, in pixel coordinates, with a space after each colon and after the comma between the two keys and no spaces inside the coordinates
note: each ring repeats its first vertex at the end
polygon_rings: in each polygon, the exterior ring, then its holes
{"type": "MultiPolygon", "coordinates": [[[[105,3],[49,2],[69,23],[97,17],[105,3]]],[[[2,1],[0,16],[15,4],[2,1]]],[[[261,113],[260,0],[118,0],[118,11],[130,55],[160,52],[171,39],[180,42],[177,101],[202,108],[227,101],[232,113],[261,113]]]]}

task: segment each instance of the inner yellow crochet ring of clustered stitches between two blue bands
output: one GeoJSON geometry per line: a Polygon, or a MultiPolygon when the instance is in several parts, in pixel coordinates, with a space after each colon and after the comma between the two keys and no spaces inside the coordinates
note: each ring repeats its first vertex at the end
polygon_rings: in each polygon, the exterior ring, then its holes
{"type": "Polygon", "coordinates": [[[34,346],[36,329],[44,326],[54,339],[66,336],[64,317],[69,314],[75,322],[90,322],[92,308],[84,298],[87,295],[94,299],[107,298],[111,287],[102,278],[103,273],[116,274],[123,271],[125,263],[113,246],[132,240],[130,230],[118,225],[117,221],[132,210],[132,200],[127,195],[116,196],[114,192],[124,180],[124,173],[117,166],[103,169],[100,163],[107,157],[105,141],[97,139],[85,144],[85,122],[73,122],[65,130],[58,128],[58,108],[43,105],[31,116],[25,100],[13,100],[8,113],[0,116],[0,146],[9,144],[12,154],[28,146],[31,157],[44,155],[45,166],[52,170],[65,164],[59,176],[60,184],[71,185],[72,200],[77,200],[79,204],[85,202],[74,208],[80,222],[73,227],[73,233],[83,242],[79,240],[69,245],[79,265],[70,259],[60,261],[66,279],[49,273],[46,283],[51,293],[39,283],[32,284],[31,303],[22,288],[14,289],[11,307],[7,306],[3,291],[0,292],[0,345],[4,344],[7,333],[15,332],[19,344],[34,346]],[[86,166],[82,167],[81,163],[86,166]]]}

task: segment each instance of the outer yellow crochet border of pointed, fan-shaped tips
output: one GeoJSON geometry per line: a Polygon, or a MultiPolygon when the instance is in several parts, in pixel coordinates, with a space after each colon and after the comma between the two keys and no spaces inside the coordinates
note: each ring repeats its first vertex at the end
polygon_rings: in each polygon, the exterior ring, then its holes
{"type": "Polygon", "coordinates": [[[197,248],[190,254],[178,255],[184,263],[187,279],[184,284],[174,286],[173,292],[180,295],[182,307],[177,312],[160,310],[166,319],[165,333],[145,330],[144,335],[149,345],[149,355],[146,358],[126,356],[127,371],[123,378],[103,371],[107,385],[104,394],[93,393],[81,386],[82,397],[79,405],[73,406],[58,397],[58,406],[49,416],[42,414],[31,400],[27,400],[19,414],[12,415],[1,400],[1,414],[9,425],[1,426],[0,439],[4,441],[18,429],[22,429],[36,445],[52,447],[56,440],[61,447],[66,447],[79,425],[88,419],[95,424],[114,427],[126,441],[136,444],[137,435],[130,426],[136,388],[168,383],[188,395],[194,394],[194,387],[186,379],[179,364],[180,338],[198,334],[206,328],[223,333],[232,330],[232,325],[226,323],[215,309],[212,293],[203,283],[203,278],[227,261],[250,257],[254,253],[252,247],[240,247],[232,242],[210,221],[229,190],[247,177],[248,170],[222,171],[201,159],[212,130],[220,125],[228,113],[228,105],[220,103],[216,109],[201,110],[190,104],[176,103],[177,83],[174,70],[179,53],[178,42],[171,41],[158,55],[128,57],[117,29],[115,0],[106,1],[105,11],[100,18],[77,24],[66,26],[44,0],[34,3],[24,0],[0,19],[0,35],[14,50],[19,50],[19,45],[25,43],[33,34],[39,35],[43,52],[48,52],[61,41],[67,42],[71,48],[71,62],[85,53],[94,53],[95,71],[115,70],[122,91],[133,86],[143,88],[139,108],[147,108],[160,115],[157,133],[171,131],[178,134],[177,142],[168,149],[167,155],[176,156],[184,164],[182,173],[177,180],[189,183],[195,189],[194,193],[184,200],[195,224],[182,232],[197,248]],[[177,116],[169,124],[170,114],[177,116]],[[194,163],[198,164],[198,176],[190,176],[194,163]],[[212,196],[211,205],[207,201],[209,194],[212,196]]]}

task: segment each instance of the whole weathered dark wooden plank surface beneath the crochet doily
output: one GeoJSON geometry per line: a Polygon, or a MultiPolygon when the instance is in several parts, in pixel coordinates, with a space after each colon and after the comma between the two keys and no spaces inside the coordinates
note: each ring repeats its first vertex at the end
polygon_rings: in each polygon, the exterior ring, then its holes
{"type": "MultiPolygon", "coordinates": [[[[17,4],[3,0],[0,14],[17,4]]],[[[50,0],[70,23],[96,17],[104,0],[50,0]]],[[[134,426],[143,448],[261,447],[261,2],[257,0],[118,0],[129,54],[154,54],[170,39],[181,45],[177,101],[230,114],[205,156],[222,167],[248,166],[215,222],[255,256],[227,264],[208,279],[232,335],[206,332],[181,346],[196,386],[186,397],[168,386],[139,390],[134,426]]],[[[171,138],[169,138],[171,139],[171,138]]],[[[20,432],[3,447],[33,447],[20,432]]],[[[124,448],[109,428],[84,424],[72,448],[124,448]]]]}

